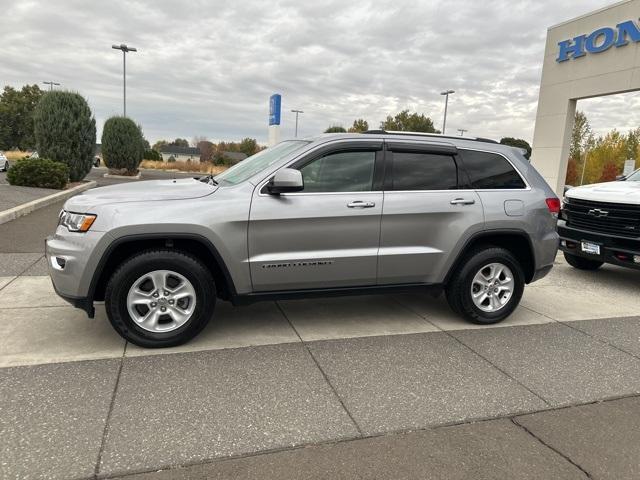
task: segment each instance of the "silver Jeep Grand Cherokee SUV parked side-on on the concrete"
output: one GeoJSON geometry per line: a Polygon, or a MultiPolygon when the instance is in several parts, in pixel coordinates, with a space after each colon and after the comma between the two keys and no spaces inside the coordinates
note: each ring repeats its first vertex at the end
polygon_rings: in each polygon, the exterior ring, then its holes
{"type": "Polygon", "coordinates": [[[144,347],[188,341],[216,299],[441,292],[503,320],[558,249],[560,201],[517,149],[374,131],[291,140],[216,177],[69,199],[46,255],[58,294],[144,347]]]}

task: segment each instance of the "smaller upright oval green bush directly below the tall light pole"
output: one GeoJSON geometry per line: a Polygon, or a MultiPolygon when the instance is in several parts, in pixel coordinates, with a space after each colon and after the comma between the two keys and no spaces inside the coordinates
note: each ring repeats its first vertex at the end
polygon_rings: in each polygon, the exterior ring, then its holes
{"type": "Polygon", "coordinates": [[[140,127],[126,117],[111,117],[102,129],[102,159],[111,170],[135,175],[144,155],[140,127]]]}

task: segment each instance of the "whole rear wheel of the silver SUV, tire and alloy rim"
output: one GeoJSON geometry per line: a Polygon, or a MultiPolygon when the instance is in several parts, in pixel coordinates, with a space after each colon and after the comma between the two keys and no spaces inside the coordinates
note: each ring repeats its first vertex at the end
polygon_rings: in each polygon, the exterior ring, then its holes
{"type": "Polygon", "coordinates": [[[479,324],[498,323],[515,310],[524,290],[518,260],[504,248],[470,252],[446,287],[451,309],[479,324]]]}

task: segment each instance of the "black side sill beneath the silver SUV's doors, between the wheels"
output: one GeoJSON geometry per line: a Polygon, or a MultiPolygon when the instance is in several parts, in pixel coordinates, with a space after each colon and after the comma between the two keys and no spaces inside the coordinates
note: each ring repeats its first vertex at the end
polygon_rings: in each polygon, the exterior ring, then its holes
{"type": "Polygon", "coordinates": [[[249,305],[255,302],[274,300],[296,300],[303,298],[344,297],[350,295],[375,295],[392,293],[421,293],[437,297],[444,285],[432,283],[411,283],[401,285],[371,285],[365,287],[310,288],[303,290],[276,290],[233,295],[233,305],[249,305]]]}

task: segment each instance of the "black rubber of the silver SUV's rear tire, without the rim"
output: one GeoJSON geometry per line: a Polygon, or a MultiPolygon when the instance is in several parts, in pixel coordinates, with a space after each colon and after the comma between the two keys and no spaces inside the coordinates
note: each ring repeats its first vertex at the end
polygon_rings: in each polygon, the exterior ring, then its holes
{"type": "Polygon", "coordinates": [[[520,262],[508,250],[494,246],[480,247],[469,252],[445,288],[447,302],[451,309],[465,319],[481,325],[498,323],[511,315],[520,303],[523,291],[524,272],[520,262]],[[514,280],[511,297],[504,306],[494,312],[486,312],[478,308],[471,296],[473,277],[483,266],[490,263],[501,263],[507,266],[514,280]]]}

